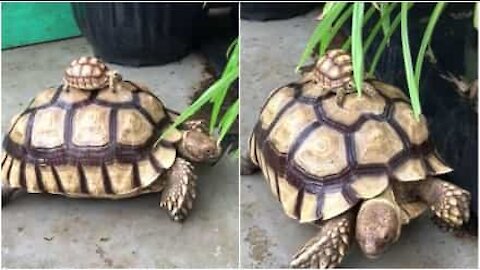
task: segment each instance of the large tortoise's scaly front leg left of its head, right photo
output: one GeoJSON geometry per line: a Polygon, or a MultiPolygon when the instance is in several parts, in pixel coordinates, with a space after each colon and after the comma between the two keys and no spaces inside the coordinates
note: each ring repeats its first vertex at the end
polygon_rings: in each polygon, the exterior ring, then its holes
{"type": "Polygon", "coordinates": [[[293,257],[294,268],[332,268],[345,256],[353,239],[353,210],[324,221],[320,232],[310,239],[293,257]]]}

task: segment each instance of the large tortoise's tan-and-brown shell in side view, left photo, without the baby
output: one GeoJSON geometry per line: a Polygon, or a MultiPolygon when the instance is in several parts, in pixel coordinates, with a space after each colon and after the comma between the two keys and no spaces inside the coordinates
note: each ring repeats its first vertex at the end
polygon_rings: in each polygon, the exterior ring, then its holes
{"type": "Polygon", "coordinates": [[[120,82],[115,92],[49,88],[12,121],[3,181],[74,197],[145,192],[175,160],[179,131],[153,149],[170,123],[162,102],[132,82],[120,82]]]}

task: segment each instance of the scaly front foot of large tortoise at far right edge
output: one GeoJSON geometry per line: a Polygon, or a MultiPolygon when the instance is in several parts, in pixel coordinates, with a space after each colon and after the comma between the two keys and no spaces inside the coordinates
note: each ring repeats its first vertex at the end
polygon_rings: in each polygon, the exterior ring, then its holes
{"type": "Polygon", "coordinates": [[[470,194],[450,183],[441,184],[441,195],[431,209],[446,225],[458,228],[470,219],[470,194]]]}

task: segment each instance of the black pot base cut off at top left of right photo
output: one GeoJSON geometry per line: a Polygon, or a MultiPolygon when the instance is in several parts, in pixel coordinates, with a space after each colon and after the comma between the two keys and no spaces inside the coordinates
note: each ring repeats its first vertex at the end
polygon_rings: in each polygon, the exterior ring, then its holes
{"type": "Polygon", "coordinates": [[[288,19],[307,13],[316,3],[241,3],[242,19],[252,21],[267,21],[288,19]]]}

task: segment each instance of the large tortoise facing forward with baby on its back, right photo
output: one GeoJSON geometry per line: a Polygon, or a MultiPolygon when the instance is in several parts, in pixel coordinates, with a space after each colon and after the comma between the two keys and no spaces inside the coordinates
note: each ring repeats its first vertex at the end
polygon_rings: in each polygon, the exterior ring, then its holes
{"type": "Polygon", "coordinates": [[[242,159],[242,174],[260,168],[289,217],[319,226],[292,267],[334,267],[353,239],[375,258],[428,208],[451,227],[469,219],[469,192],[436,178],[451,169],[403,92],[372,79],[368,95],[345,95],[351,81],[350,56],[330,50],[273,90],[242,159]]]}

